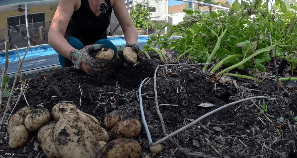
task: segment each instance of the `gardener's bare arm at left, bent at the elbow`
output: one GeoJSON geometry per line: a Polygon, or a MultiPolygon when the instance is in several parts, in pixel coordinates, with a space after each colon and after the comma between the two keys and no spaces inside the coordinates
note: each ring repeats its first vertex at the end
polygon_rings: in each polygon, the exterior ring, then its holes
{"type": "Polygon", "coordinates": [[[64,38],[67,25],[74,12],[76,1],[60,0],[48,31],[48,44],[60,55],[70,59],[74,48],[64,38]]]}

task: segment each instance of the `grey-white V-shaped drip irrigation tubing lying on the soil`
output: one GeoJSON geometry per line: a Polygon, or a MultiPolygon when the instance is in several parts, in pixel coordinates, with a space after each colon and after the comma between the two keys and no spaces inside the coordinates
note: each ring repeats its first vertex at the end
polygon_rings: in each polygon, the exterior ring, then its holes
{"type": "Polygon", "coordinates": [[[203,116],[199,117],[198,119],[196,119],[195,121],[189,123],[188,125],[185,125],[184,127],[181,127],[180,129],[174,131],[173,133],[165,136],[164,138],[160,139],[159,141],[153,143],[152,139],[151,139],[151,134],[149,133],[149,127],[146,123],[146,118],[144,116],[144,111],[143,111],[143,105],[142,105],[142,97],[141,97],[141,87],[142,87],[142,84],[147,80],[149,79],[149,77],[145,78],[141,83],[140,83],[140,86],[139,86],[139,102],[140,102],[140,111],[141,111],[141,117],[142,117],[142,121],[143,121],[143,125],[144,125],[144,128],[146,130],[146,134],[147,134],[147,137],[149,139],[149,144],[151,146],[156,146],[158,145],[159,143],[162,143],[163,141],[166,141],[168,140],[169,138],[173,137],[174,135],[177,135],[178,133],[181,133],[183,130],[186,130],[187,128],[191,127],[192,125],[195,125],[196,123],[198,123],[199,121],[201,121],[202,119],[206,118],[207,116],[211,115],[211,114],[214,114],[220,110],[222,110],[223,108],[227,108],[228,106],[231,106],[231,105],[234,105],[234,104],[237,104],[237,103],[241,103],[241,102],[244,102],[244,101],[247,101],[247,100],[251,100],[251,99],[259,99],[259,98],[265,98],[265,99],[268,99],[267,97],[264,97],[264,96],[258,96],[258,97],[250,97],[250,98],[245,98],[245,99],[242,99],[242,100],[238,100],[238,101],[235,101],[235,102],[232,102],[232,103],[229,103],[229,104],[226,104],[224,106],[221,106],[213,111],[210,111],[208,112],[207,114],[204,114],[203,116]]]}

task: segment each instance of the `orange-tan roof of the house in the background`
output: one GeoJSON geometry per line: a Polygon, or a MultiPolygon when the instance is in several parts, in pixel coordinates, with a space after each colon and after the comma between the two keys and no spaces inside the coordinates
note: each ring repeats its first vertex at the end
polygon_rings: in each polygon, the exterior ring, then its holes
{"type": "MultiPolygon", "coordinates": [[[[227,8],[230,8],[231,7],[231,4],[229,3],[229,1],[227,0],[218,0],[218,1],[215,1],[216,5],[219,5],[219,6],[222,6],[222,7],[227,7],[227,8]],[[222,5],[222,4],[218,4],[218,3],[225,3],[226,5],[222,5]]],[[[202,4],[194,4],[195,8],[198,8],[198,5],[199,5],[199,9],[201,11],[204,11],[204,10],[209,10],[209,7],[208,6],[204,6],[202,4]]],[[[184,8],[186,7],[186,4],[179,4],[179,5],[175,5],[175,6],[169,6],[168,7],[168,13],[176,13],[176,12],[184,12],[184,8]]],[[[212,7],[212,9],[220,9],[220,8],[216,8],[216,7],[212,7]]]]}

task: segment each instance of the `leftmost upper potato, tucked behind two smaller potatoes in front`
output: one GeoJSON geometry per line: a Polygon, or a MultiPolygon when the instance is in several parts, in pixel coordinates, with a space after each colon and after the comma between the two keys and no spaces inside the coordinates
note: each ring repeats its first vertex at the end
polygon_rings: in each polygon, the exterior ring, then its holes
{"type": "Polygon", "coordinates": [[[32,106],[24,106],[18,109],[18,111],[16,111],[15,114],[12,115],[9,120],[7,132],[10,133],[10,130],[15,125],[25,125],[24,122],[25,122],[26,116],[30,114],[30,112],[33,110],[34,108],[32,106]]]}

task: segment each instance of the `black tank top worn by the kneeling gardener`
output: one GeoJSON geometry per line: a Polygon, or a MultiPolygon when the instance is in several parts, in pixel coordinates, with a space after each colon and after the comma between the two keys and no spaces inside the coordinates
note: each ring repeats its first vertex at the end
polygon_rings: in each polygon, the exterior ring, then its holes
{"type": "Polygon", "coordinates": [[[89,5],[88,0],[81,0],[80,8],[73,12],[68,23],[65,38],[75,37],[84,46],[94,44],[99,39],[107,39],[106,29],[110,23],[112,12],[110,0],[99,5],[100,14],[96,16],[89,5]]]}

